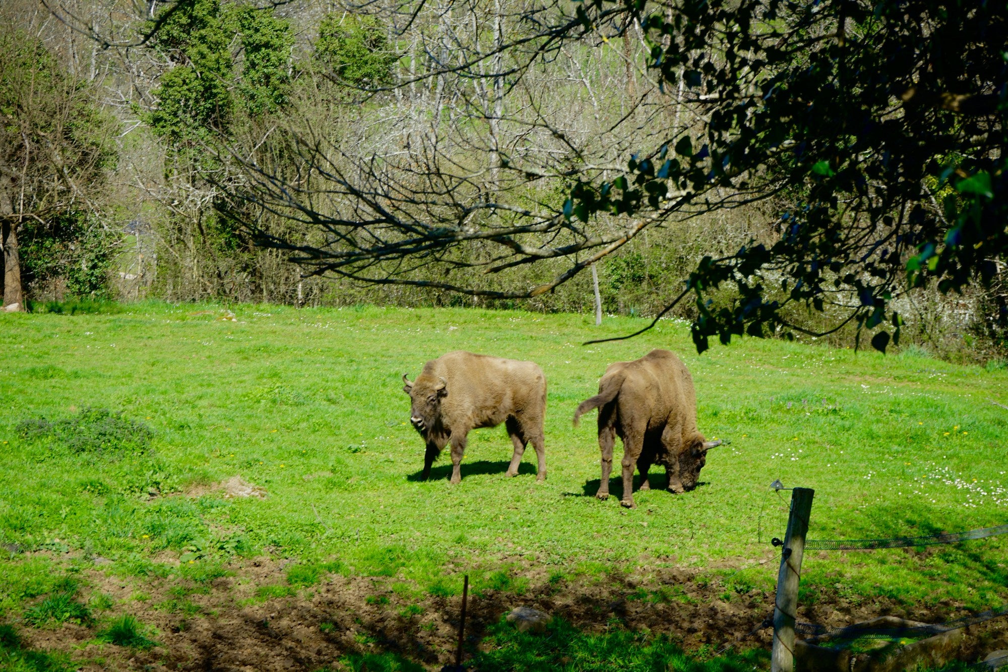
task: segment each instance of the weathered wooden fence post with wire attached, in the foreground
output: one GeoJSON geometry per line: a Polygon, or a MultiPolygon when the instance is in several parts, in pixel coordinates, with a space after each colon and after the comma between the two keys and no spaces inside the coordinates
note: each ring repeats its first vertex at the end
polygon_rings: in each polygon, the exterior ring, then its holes
{"type": "Polygon", "coordinates": [[[798,579],[801,578],[801,556],[805,550],[808,515],[812,510],[815,490],[795,487],[791,490],[791,513],[787,517],[787,532],[780,554],[777,574],[777,597],[773,608],[773,650],[771,672],[791,672],[794,669],[794,617],[798,607],[798,579]]]}

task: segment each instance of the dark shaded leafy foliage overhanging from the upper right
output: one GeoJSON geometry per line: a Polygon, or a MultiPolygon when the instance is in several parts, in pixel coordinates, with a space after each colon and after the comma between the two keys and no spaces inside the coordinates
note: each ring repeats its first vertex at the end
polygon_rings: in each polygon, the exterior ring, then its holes
{"type": "MultiPolygon", "coordinates": [[[[711,336],[799,328],[781,314],[791,302],[846,306],[845,323],[891,323],[898,342],[902,320],[888,302],[904,277],[942,293],[991,284],[1008,251],[1003,4],[687,1],[651,11],[586,3],[579,37],[617,14],[639,18],[649,67],[664,86],[695,92],[702,128],[672,129],[625,176],[580,180],[563,213],[588,221],[781,199],[776,242],[707,257],[690,274],[700,351],[711,336]],[[722,201],[715,190],[726,189],[722,201]],[[730,305],[712,308],[725,284],[730,305]]],[[[1008,325],[1003,299],[997,310],[1008,325]]],[[[878,331],[872,345],[884,351],[889,340],[878,331]]]]}

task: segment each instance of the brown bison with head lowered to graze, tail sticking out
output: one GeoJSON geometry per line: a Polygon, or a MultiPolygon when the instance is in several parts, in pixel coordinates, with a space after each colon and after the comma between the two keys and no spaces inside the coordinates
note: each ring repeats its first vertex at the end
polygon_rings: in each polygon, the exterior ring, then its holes
{"type": "Polygon", "coordinates": [[[640,469],[640,489],[650,488],[647,470],[665,467],[670,492],[697,487],[707,451],[721,445],[697,431],[697,395],[685,365],[668,350],[651,350],[636,361],[610,364],[599,381],[599,394],[581,403],[574,424],[599,409],[602,482],[596,496],[609,496],[613,444],[623,440],[624,507],[633,508],[633,468],[640,469]]]}

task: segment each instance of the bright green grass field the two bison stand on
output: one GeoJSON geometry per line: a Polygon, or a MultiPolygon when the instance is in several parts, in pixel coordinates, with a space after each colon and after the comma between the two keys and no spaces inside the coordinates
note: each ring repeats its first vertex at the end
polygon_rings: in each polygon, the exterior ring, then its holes
{"type": "MultiPolygon", "coordinates": [[[[1008,523],[1008,411],[992,404],[1008,404],[1003,367],[757,339],[697,355],[674,322],[581,345],[642,326],[629,318],[596,328],[583,316],[463,309],[231,311],[138,304],[2,316],[0,620],[23,623],[58,591],[62,570],[47,568],[96,558],[124,575],[193,575],[265,553],[306,575],[396,577],[434,594],[457,593],[463,572],[477,594],[520,592],[542,568],[602,580],[616,571],[646,581],[661,567],[724,575],[773,557],[787,494],[770,490],[775,478],[815,488],[813,539],[1008,523]],[[697,490],[664,491],[659,470],[658,489],[627,511],[592,496],[594,418],[579,429],[571,419],[608,363],[654,347],[682,357],[701,431],[730,444],[711,452],[697,490]],[[400,376],[455,349],[542,366],[545,483],[535,482],[531,450],[519,476],[504,477],[502,427],[470,435],[461,485],[446,479],[447,453],[435,477],[418,480],[423,447],[400,376]],[[265,498],[215,489],[236,475],[265,498]]],[[[813,554],[802,599],[1000,605],[1004,549],[994,538],[813,554]]],[[[739,577],[772,588],[775,569],[770,561],[739,577]]]]}

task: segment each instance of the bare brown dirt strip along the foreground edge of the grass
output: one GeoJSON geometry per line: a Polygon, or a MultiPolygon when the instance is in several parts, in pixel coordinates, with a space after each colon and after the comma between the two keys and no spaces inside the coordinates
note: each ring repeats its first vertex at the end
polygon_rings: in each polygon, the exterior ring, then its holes
{"type": "MultiPolygon", "coordinates": [[[[243,670],[316,672],[339,669],[352,653],[392,651],[437,669],[453,659],[460,597],[402,590],[395,577],[331,574],[307,588],[286,582],[289,561],[259,558],[231,567],[230,576],[208,584],[178,578],[122,578],[99,569],[86,572],[90,592],[116,601],[114,612],[135,614],[152,626],[159,646],[145,652],[96,644],[94,629],[67,625],[26,630],[30,646],[58,649],[82,670],[243,670]],[[263,586],[275,586],[263,596],[263,586]],[[393,589],[398,588],[398,590],[393,589]],[[289,594],[284,594],[289,593],[289,594]]],[[[771,631],[759,630],[773,595],[759,589],[740,594],[708,583],[699,570],[663,568],[646,576],[613,574],[550,582],[544,570],[525,574],[523,595],[487,590],[472,596],[467,618],[470,651],[486,646],[487,628],[516,606],[559,615],[579,628],[614,627],[666,635],[686,650],[769,647],[771,631]],[[754,632],[755,631],[755,632],[754,632]]],[[[460,577],[461,579],[461,577],[460,577]]],[[[89,596],[87,593],[85,597],[89,596]]],[[[951,601],[908,608],[894,600],[852,604],[822,595],[802,606],[799,621],[846,626],[879,615],[940,623],[966,612],[951,601]]],[[[1008,620],[967,630],[967,660],[1008,645],[1008,620]]]]}

